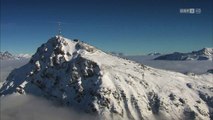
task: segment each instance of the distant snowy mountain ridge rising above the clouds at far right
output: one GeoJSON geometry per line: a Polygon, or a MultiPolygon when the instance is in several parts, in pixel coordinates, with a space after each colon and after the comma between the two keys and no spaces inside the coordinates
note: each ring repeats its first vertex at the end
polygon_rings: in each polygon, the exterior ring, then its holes
{"type": "Polygon", "coordinates": [[[155,60],[212,60],[213,48],[203,48],[191,53],[174,52],[155,58],[155,60]]]}

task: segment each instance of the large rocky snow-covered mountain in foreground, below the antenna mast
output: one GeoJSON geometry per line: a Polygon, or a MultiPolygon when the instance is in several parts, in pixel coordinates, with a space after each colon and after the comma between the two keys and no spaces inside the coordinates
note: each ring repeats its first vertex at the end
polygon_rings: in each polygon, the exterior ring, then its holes
{"type": "Polygon", "coordinates": [[[43,96],[107,120],[209,120],[212,77],[154,69],[56,36],[9,75],[0,94],[43,96]]]}

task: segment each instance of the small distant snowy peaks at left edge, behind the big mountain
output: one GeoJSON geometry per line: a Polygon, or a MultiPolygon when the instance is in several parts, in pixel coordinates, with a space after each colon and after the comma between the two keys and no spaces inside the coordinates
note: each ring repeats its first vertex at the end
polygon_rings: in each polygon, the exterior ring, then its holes
{"type": "Polygon", "coordinates": [[[29,55],[29,54],[13,55],[8,51],[0,52],[0,60],[19,60],[19,59],[27,59],[30,57],[31,57],[31,55],[29,55]]]}

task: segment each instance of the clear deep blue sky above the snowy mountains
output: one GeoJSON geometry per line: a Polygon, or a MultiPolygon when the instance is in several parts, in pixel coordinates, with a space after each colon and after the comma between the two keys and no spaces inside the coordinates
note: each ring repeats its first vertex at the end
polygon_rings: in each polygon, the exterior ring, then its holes
{"type": "Polygon", "coordinates": [[[126,55],[213,46],[212,0],[1,0],[1,51],[35,53],[57,21],[67,38],[126,55]]]}

